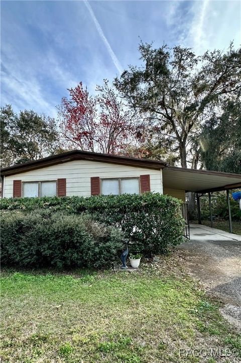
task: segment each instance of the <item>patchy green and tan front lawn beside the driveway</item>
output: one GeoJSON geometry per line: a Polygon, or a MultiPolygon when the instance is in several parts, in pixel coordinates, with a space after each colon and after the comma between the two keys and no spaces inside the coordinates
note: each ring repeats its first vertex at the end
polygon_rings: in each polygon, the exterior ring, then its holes
{"type": "Polygon", "coordinates": [[[211,363],[220,360],[179,349],[240,353],[218,305],[175,259],[163,263],[132,273],[3,271],[2,361],[211,363]]]}

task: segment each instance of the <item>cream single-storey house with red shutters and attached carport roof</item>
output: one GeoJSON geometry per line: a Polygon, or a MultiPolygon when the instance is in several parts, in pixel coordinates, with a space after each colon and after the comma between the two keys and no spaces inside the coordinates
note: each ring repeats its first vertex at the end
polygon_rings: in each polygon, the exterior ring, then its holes
{"type": "Polygon", "coordinates": [[[94,196],[157,192],[185,202],[186,192],[241,187],[241,175],[170,167],[165,161],[73,150],[2,169],[3,197],[94,196]]]}

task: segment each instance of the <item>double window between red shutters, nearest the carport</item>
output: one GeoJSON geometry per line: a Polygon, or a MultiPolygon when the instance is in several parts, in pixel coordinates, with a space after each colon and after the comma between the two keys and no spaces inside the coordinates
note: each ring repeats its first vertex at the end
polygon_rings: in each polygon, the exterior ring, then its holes
{"type": "Polygon", "coordinates": [[[102,179],[101,194],[140,194],[139,178],[102,179]]]}

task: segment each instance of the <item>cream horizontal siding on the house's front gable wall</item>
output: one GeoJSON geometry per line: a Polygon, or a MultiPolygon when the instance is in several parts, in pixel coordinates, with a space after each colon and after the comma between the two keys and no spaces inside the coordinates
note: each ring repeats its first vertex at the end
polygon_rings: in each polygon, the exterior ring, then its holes
{"type": "Polygon", "coordinates": [[[163,192],[162,170],[145,169],[141,167],[110,164],[99,161],[74,160],[44,168],[26,171],[5,177],[4,197],[13,197],[13,180],[23,182],[39,180],[56,180],[66,178],[67,196],[90,196],[90,177],[100,178],[129,177],[150,174],[152,192],[163,192]]]}

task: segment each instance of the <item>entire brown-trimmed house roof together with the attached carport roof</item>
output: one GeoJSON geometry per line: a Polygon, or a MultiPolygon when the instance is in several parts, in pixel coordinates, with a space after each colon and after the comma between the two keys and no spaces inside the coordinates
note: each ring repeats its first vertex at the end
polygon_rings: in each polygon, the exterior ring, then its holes
{"type": "Polygon", "coordinates": [[[80,150],[63,152],[39,160],[5,167],[1,170],[1,175],[14,175],[72,160],[100,161],[148,169],[163,169],[163,187],[181,189],[186,192],[206,193],[241,188],[241,174],[174,167],[168,166],[168,163],[162,160],[142,159],[80,150]]]}

